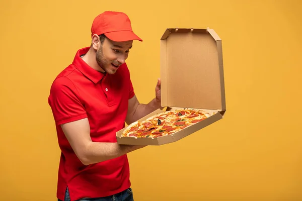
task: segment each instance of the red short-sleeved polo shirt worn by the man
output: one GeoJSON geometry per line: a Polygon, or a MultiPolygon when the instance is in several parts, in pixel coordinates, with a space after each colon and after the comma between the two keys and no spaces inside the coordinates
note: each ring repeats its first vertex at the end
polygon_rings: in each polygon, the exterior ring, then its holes
{"type": "Polygon", "coordinates": [[[57,183],[61,200],[67,186],[71,200],[108,196],[130,187],[127,155],[84,165],[60,127],[88,118],[92,141],[116,142],[115,133],[125,126],[128,99],[134,96],[128,67],[124,63],[112,75],[98,72],[80,57],[88,50],[78,50],[72,64],[55,78],[48,98],[61,149],[57,183]]]}

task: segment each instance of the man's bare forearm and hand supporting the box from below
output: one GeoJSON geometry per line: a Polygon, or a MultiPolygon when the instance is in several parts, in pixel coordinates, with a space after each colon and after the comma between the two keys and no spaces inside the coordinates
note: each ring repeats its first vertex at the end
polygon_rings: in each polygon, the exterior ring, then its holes
{"type": "Polygon", "coordinates": [[[85,147],[85,150],[83,150],[80,160],[83,164],[89,165],[117,158],[142,147],[143,146],[119,145],[110,142],[90,142],[85,147]]]}

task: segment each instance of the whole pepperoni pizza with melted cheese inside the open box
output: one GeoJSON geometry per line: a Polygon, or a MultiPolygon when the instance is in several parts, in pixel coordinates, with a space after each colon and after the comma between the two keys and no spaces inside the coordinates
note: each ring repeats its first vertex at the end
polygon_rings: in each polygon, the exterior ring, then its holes
{"type": "Polygon", "coordinates": [[[157,138],[171,135],[192,126],[211,115],[199,109],[166,111],[144,121],[136,121],[124,129],[121,137],[157,138]]]}

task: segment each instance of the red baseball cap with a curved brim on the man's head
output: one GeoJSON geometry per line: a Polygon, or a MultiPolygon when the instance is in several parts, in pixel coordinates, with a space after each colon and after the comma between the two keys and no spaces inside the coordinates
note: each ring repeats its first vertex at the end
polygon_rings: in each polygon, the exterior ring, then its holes
{"type": "Polygon", "coordinates": [[[121,12],[106,11],[98,15],[91,27],[91,36],[94,34],[105,34],[107,38],[116,42],[142,41],[133,33],[128,16],[121,12]]]}

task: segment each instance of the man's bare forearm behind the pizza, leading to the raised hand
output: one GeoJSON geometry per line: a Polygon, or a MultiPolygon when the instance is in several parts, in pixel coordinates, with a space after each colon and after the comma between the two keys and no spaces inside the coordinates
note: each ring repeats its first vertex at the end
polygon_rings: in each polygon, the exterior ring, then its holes
{"type": "Polygon", "coordinates": [[[140,118],[156,111],[157,109],[163,110],[163,107],[161,107],[161,102],[159,102],[156,98],[152,99],[148,104],[139,104],[132,115],[132,122],[139,120],[140,118]]]}

